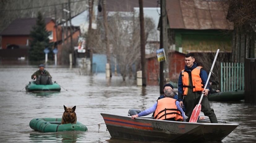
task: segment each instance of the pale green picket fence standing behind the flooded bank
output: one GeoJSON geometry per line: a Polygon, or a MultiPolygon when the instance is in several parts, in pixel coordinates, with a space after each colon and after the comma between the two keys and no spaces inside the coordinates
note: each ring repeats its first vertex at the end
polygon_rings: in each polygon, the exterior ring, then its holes
{"type": "Polygon", "coordinates": [[[220,69],[221,91],[245,90],[244,63],[222,62],[220,69]]]}

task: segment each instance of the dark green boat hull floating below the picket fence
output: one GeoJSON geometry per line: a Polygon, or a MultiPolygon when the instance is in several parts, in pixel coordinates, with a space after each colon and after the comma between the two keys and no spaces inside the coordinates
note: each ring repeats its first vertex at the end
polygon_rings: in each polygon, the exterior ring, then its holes
{"type": "Polygon", "coordinates": [[[209,101],[240,101],[245,99],[245,91],[225,91],[208,95],[209,101]]]}

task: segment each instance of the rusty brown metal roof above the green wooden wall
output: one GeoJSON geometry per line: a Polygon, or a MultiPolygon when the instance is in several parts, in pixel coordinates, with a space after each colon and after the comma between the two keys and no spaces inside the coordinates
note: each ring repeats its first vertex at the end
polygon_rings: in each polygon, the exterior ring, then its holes
{"type": "Polygon", "coordinates": [[[233,23],[226,19],[228,6],[223,1],[168,0],[166,10],[171,29],[233,30],[233,23]]]}

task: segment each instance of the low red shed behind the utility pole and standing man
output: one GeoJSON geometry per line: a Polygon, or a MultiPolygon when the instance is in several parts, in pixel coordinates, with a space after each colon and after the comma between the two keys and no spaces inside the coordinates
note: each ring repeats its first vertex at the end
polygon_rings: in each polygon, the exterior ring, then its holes
{"type": "MultiPolygon", "coordinates": [[[[169,61],[169,77],[172,82],[178,82],[181,70],[185,67],[185,54],[171,50],[168,52],[169,61]]],[[[159,85],[159,69],[156,54],[146,55],[147,64],[147,85],[159,85]]]]}

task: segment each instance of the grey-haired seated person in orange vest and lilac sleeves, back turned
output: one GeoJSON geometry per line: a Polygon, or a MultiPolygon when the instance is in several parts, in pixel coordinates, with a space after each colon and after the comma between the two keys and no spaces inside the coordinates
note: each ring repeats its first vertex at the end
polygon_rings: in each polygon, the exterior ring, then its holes
{"type": "Polygon", "coordinates": [[[168,120],[168,121],[185,121],[185,115],[180,108],[179,101],[173,99],[174,93],[172,89],[164,91],[164,98],[159,99],[151,108],[144,110],[137,115],[132,115],[132,120],[136,117],[146,116],[153,112],[154,119],[168,120]]]}

